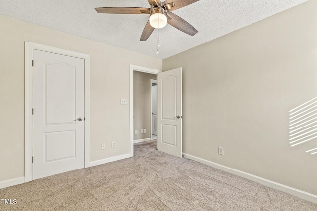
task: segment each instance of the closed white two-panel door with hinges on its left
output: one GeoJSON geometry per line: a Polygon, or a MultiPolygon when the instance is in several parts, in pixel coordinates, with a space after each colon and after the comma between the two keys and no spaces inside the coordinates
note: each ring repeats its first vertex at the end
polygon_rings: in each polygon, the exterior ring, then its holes
{"type": "Polygon", "coordinates": [[[33,60],[33,179],[84,168],[84,59],[33,60]]]}

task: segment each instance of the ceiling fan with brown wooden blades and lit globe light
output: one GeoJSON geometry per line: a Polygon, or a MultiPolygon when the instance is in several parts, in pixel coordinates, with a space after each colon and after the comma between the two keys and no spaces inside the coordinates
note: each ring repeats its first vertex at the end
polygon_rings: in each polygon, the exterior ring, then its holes
{"type": "Polygon", "coordinates": [[[150,14],[144,27],[140,41],[146,41],[155,28],[163,28],[170,24],[176,29],[194,36],[198,31],[183,18],[172,13],[173,10],[182,8],[199,0],[148,0],[150,8],[141,7],[101,7],[95,8],[98,13],[110,14],[150,14]]]}

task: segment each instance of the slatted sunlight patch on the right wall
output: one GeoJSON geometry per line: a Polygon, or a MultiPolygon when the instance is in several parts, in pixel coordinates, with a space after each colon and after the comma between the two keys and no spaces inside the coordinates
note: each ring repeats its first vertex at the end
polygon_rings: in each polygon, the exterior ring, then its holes
{"type": "MultiPolygon", "coordinates": [[[[317,140],[317,97],[289,111],[291,147],[317,140]]],[[[317,154],[317,148],[306,153],[317,154]]]]}

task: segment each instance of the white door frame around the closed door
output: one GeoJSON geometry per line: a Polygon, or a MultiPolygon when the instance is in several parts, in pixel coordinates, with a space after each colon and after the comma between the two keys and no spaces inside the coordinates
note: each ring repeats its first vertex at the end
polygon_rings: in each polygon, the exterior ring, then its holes
{"type": "Polygon", "coordinates": [[[24,182],[33,180],[33,50],[42,50],[84,59],[85,63],[85,126],[84,126],[84,167],[90,166],[90,55],[64,50],[33,42],[25,42],[25,100],[24,100],[24,182]]]}

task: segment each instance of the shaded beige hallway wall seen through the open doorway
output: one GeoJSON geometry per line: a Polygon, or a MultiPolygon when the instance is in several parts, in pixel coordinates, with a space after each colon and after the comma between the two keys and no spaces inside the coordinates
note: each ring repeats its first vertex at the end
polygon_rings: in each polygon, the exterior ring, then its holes
{"type": "Polygon", "coordinates": [[[150,138],[150,79],[156,80],[157,76],[150,73],[134,71],[133,74],[133,126],[134,139],[150,138]],[[135,130],[138,134],[135,134],[135,130]],[[146,133],[141,134],[141,129],[146,133]]]}

